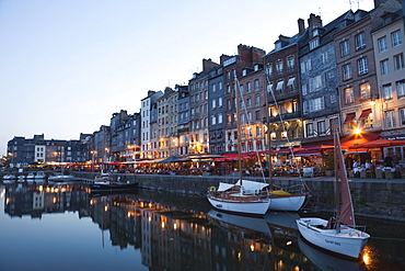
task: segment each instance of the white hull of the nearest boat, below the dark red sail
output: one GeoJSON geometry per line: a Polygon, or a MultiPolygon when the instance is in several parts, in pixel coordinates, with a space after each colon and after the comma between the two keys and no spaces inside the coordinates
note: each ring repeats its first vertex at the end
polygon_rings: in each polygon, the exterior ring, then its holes
{"type": "Polygon", "coordinates": [[[309,242],[350,258],[359,258],[370,238],[367,233],[344,225],[340,226],[339,233],[336,229],[322,229],[314,225],[326,226],[327,221],[308,217],[297,219],[300,234],[309,242]]]}

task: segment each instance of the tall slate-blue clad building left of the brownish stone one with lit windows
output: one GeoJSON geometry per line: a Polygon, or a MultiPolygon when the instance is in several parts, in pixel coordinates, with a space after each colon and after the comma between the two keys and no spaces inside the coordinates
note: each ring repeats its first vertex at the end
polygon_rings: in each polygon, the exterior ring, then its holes
{"type": "MultiPolygon", "coordinates": [[[[345,12],[323,25],[321,16],[310,14],[305,34],[299,42],[303,145],[332,139],[333,126],[339,123],[338,75],[333,35],[345,12]]],[[[306,145],[312,146],[312,145],[306,145]]]]}

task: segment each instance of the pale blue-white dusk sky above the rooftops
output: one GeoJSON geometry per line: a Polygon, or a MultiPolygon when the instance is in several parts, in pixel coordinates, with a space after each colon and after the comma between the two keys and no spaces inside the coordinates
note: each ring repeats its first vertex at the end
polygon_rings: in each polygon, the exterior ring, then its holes
{"type": "Polygon", "coordinates": [[[204,58],[269,52],[299,18],[350,7],[373,0],[0,0],[0,155],[14,136],[92,134],[148,90],[187,84],[204,58]]]}

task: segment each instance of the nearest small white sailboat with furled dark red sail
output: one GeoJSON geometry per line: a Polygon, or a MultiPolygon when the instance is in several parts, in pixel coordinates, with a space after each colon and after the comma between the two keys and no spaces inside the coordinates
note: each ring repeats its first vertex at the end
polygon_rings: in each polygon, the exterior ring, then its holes
{"type": "Polygon", "coordinates": [[[336,218],[332,217],[329,221],[326,221],[319,217],[304,217],[297,219],[297,225],[302,237],[309,242],[328,251],[357,259],[370,238],[370,235],[358,229],[359,227],[356,227],[351,194],[345,172],[342,146],[337,131],[334,133],[334,142],[335,189],[337,197],[336,218]],[[338,184],[340,184],[340,189],[338,189],[338,184]]]}

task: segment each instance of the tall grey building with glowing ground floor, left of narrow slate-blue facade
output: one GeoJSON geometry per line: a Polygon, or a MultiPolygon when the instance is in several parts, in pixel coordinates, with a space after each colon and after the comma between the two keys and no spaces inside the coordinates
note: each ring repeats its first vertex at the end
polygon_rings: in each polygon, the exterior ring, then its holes
{"type": "Polygon", "coordinates": [[[217,66],[211,59],[202,59],[202,71],[195,72],[188,81],[190,154],[209,153],[208,80],[209,72],[217,66]]]}

